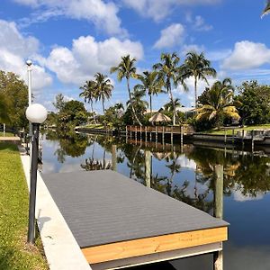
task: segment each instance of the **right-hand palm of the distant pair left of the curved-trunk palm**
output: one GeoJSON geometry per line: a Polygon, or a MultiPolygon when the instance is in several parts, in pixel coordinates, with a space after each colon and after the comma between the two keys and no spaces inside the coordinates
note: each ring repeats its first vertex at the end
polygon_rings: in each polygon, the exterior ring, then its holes
{"type": "Polygon", "coordinates": [[[108,76],[103,75],[102,73],[96,73],[94,75],[94,89],[96,94],[96,99],[102,100],[103,103],[103,113],[105,113],[104,101],[109,99],[112,96],[113,85],[111,80],[107,78],[108,76]]]}

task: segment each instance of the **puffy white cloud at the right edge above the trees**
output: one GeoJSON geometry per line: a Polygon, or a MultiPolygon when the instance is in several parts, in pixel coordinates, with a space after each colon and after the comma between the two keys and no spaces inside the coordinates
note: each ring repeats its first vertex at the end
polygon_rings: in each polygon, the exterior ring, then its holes
{"type": "Polygon", "coordinates": [[[237,42],[221,67],[231,70],[250,69],[270,63],[270,49],[266,44],[244,40],[237,42]]]}

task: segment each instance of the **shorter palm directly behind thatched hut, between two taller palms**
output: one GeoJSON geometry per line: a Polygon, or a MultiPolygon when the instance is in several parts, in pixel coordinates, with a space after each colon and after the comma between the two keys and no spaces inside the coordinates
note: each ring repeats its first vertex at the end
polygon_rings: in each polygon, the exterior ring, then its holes
{"type": "Polygon", "coordinates": [[[144,90],[148,93],[150,98],[150,113],[152,116],[152,95],[162,93],[162,82],[158,80],[157,71],[144,71],[143,76],[138,75],[141,85],[135,85],[134,89],[144,90]]]}

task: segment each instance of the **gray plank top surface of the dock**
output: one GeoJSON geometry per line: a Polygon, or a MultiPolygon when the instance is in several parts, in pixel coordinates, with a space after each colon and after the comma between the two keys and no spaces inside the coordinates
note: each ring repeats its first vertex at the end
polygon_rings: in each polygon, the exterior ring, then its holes
{"type": "Polygon", "coordinates": [[[111,170],[42,178],[80,247],[229,225],[111,170]]]}

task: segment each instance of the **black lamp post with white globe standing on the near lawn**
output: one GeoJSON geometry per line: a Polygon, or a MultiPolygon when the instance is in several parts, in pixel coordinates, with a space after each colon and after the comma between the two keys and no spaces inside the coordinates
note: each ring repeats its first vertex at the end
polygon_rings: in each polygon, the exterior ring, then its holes
{"type": "Polygon", "coordinates": [[[38,150],[40,123],[46,120],[47,111],[38,103],[31,104],[26,110],[26,117],[31,121],[33,135],[31,137],[31,176],[30,176],[30,200],[29,200],[29,222],[27,241],[31,244],[35,240],[35,208],[36,208],[36,187],[38,170],[38,150]]]}

